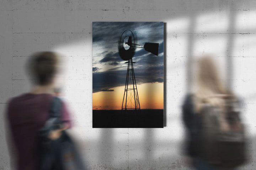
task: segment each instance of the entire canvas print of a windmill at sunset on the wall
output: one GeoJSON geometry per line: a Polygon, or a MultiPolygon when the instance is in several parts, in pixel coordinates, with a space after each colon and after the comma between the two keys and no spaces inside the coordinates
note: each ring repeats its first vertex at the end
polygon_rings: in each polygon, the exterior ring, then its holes
{"type": "Polygon", "coordinates": [[[92,23],[93,128],[162,128],[164,23],[92,23]]]}

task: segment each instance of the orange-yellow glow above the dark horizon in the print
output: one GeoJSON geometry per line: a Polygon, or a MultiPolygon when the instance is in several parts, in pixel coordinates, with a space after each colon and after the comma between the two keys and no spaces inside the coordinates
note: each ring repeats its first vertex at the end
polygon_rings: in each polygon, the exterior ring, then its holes
{"type": "MultiPolygon", "coordinates": [[[[111,88],[114,91],[100,91],[92,94],[92,109],[120,110],[124,86],[111,88]]],[[[137,84],[140,109],[164,108],[164,83],[137,84]]]]}

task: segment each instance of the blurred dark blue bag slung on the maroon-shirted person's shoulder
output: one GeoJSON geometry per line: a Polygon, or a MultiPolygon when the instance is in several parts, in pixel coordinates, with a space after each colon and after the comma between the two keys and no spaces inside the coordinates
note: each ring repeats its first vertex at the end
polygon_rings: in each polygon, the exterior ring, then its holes
{"type": "Polygon", "coordinates": [[[86,170],[75,143],[65,130],[57,140],[48,138],[50,130],[60,129],[61,108],[62,101],[54,97],[49,119],[38,132],[38,170],[86,170]]]}

